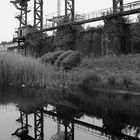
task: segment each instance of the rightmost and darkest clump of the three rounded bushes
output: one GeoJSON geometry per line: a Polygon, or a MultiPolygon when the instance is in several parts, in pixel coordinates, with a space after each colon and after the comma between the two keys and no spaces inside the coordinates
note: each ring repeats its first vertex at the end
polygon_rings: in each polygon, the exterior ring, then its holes
{"type": "Polygon", "coordinates": [[[65,70],[71,70],[73,67],[80,64],[80,58],[80,53],[78,51],[72,52],[62,60],[61,65],[65,70]]]}

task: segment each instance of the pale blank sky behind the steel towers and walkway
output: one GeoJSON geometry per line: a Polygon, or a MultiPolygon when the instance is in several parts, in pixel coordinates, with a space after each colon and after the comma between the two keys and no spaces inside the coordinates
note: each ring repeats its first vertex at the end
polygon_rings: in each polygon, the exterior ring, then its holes
{"type": "MultiPolygon", "coordinates": [[[[29,2],[29,7],[33,11],[33,1],[29,2]]],[[[136,0],[124,0],[124,3],[136,0]]],[[[112,0],[75,0],[75,11],[79,13],[89,13],[104,8],[112,7],[112,0]]],[[[44,17],[51,13],[56,13],[57,0],[44,0],[44,17]]],[[[61,10],[64,10],[64,0],[61,0],[61,10]]],[[[0,4],[0,42],[11,41],[18,28],[19,22],[15,19],[18,10],[10,3],[10,0],[3,0],[0,4]]],[[[33,14],[30,13],[29,23],[33,22],[33,14]]],[[[45,24],[45,20],[44,20],[45,24]]]]}

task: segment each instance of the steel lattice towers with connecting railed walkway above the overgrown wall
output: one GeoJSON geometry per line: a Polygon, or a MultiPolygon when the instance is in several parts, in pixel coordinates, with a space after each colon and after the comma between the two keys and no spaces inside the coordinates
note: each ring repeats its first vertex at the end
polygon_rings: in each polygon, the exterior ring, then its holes
{"type": "MultiPolygon", "coordinates": [[[[100,11],[94,11],[87,14],[77,14],[75,12],[75,0],[65,0],[65,11],[63,15],[61,14],[61,0],[57,0],[57,14],[52,17],[47,16],[46,23],[51,22],[51,25],[46,25],[43,28],[43,0],[34,0],[34,19],[33,19],[33,30],[28,27],[28,3],[31,0],[12,0],[11,3],[14,4],[20,14],[16,16],[19,20],[18,37],[14,39],[18,43],[18,48],[25,48],[25,36],[34,32],[47,32],[54,31],[60,27],[67,25],[82,25],[85,23],[91,23],[100,20],[110,20],[122,16],[127,16],[131,14],[136,14],[140,12],[140,1],[134,1],[131,3],[123,3],[123,0],[112,0],[112,7],[103,9],[100,11]],[[49,18],[48,18],[49,17],[49,18]],[[63,22],[61,22],[63,21],[63,22]],[[26,34],[22,35],[23,30],[28,28],[29,30],[26,34]]],[[[27,30],[27,29],[26,29],[27,30]]]]}

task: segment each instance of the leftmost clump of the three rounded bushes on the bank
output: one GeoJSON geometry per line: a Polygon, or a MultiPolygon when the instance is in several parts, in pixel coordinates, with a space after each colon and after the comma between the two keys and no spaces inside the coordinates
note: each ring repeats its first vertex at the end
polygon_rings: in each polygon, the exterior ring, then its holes
{"type": "Polygon", "coordinates": [[[63,53],[63,51],[49,52],[43,55],[39,60],[45,64],[54,64],[57,58],[63,53]]]}

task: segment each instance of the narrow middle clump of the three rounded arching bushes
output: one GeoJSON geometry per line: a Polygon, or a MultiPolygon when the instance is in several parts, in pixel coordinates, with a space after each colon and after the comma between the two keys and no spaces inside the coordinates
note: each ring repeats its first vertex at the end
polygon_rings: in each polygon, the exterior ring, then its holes
{"type": "Polygon", "coordinates": [[[56,65],[56,66],[60,66],[61,61],[63,61],[63,60],[64,60],[68,55],[70,55],[71,53],[73,53],[72,50],[68,50],[68,51],[63,52],[63,53],[58,57],[58,59],[56,60],[55,65],[56,65]]]}

